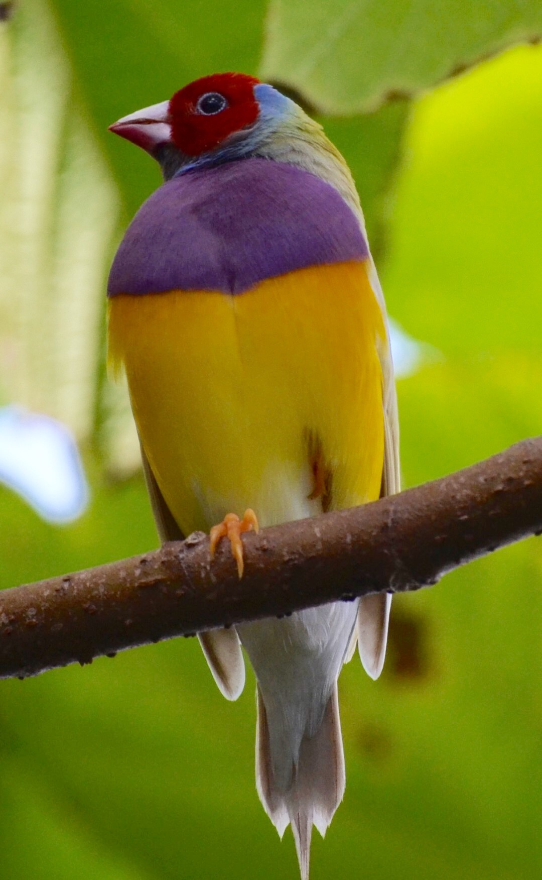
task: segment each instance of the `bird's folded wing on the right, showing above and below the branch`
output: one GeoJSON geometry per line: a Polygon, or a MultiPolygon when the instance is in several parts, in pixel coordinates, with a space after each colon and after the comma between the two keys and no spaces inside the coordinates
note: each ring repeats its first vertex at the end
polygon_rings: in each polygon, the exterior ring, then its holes
{"type": "MultiPolygon", "coordinates": [[[[380,283],[374,268],[370,282],[377,294],[381,308],[385,309],[384,297],[382,297],[380,283]]],[[[380,496],[384,497],[385,495],[395,495],[400,490],[399,414],[389,339],[382,342],[381,348],[378,350],[378,357],[382,367],[382,402],[384,407],[384,469],[380,496]]],[[[378,678],[384,665],[391,606],[391,593],[376,593],[373,596],[364,596],[360,600],[356,627],[358,648],[363,669],[370,675],[370,678],[378,678]]]]}

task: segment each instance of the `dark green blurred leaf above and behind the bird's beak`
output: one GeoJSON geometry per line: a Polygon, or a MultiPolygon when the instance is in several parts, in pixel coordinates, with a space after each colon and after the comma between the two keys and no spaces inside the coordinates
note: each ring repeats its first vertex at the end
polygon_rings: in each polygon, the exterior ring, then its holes
{"type": "Polygon", "coordinates": [[[107,126],[171,98],[196,77],[221,70],[254,73],[264,0],[50,0],[70,57],[77,94],[106,150],[132,216],[160,183],[142,150],[126,149],[107,126]]]}

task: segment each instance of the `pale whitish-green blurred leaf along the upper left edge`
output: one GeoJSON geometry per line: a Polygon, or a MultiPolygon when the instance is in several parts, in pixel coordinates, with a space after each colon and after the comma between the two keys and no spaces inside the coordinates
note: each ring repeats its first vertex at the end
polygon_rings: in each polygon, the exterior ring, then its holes
{"type": "Polygon", "coordinates": [[[47,9],[30,0],[0,40],[2,398],[67,422],[81,439],[93,428],[100,289],[119,200],[72,104],[47,9]]]}

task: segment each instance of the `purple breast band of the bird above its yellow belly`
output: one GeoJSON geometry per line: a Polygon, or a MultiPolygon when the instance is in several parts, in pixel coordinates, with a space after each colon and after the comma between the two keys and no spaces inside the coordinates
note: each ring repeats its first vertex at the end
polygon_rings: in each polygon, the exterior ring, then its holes
{"type": "Polygon", "coordinates": [[[157,189],[128,226],[107,292],[243,293],[295,269],[367,256],[334,187],[291,165],[243,159],[157,189]]]}

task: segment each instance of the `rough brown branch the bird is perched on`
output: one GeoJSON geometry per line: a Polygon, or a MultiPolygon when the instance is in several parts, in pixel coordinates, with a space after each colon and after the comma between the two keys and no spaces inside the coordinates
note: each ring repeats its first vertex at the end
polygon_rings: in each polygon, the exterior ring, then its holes
{"type": "MultiPolygon", "coordinates": [[[[542,437],[442,480],[352,510],[245,536],[245,575],[209,541],[0,593],[0,677],[369,592],[417,590],[542,532],[542,437]]],[[[225,542],[223,542],[224,545],[225,542]]]]}

